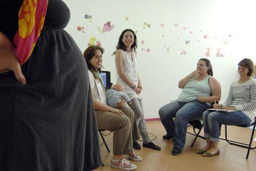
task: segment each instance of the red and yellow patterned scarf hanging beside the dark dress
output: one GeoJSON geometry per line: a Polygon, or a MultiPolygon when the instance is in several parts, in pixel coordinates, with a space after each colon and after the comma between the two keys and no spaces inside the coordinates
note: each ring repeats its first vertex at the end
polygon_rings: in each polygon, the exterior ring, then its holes
{"type": "Polygon", "coordinates": [[[14,37],[15,55],[20,64],[30,57],[38,40],[48,6],[48,0],[24,0],[19,10],[19,30],[14,37]]]}

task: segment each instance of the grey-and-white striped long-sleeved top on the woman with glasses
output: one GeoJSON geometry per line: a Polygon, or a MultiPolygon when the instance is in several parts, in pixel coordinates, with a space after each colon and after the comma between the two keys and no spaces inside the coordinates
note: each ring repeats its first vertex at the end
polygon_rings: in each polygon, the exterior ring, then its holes
{"type": "Polygon", "coordinates": [[[223,107],[233,106],[237,111],[243,112],[251,120],[256,116],[256,81],[250,79],[245,83],[231,84],[228,99],[223,107]]]}

